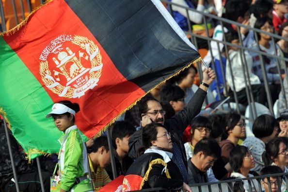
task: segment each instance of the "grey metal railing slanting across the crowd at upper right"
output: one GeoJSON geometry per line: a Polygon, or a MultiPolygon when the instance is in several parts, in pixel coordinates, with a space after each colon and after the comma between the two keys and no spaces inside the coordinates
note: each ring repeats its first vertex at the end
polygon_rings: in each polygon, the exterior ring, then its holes
{"type": "MultiPolygon", "coordinates": [[[[281,76],[281,72],[280,72],[280,61],[282,62],[288,62],[288,58],[284,58],[284,57],[281,57],[281,56],[278,56],[278,55],[272,55],[270,53],[267,53],[267,52],[263,52],[263,51],[260,51],[259,49],[259,39],[257,38],[257,33],[262,33],[262,34],[265,34],[265,35],[270,35],[271,36],[271,41],[272,41],[272,46],[273,46],[273,50],[274,52],[276,52],[276,40],[280,40],[280,39],[284,39],[286,41],[288,41],[288,38],[285,38],[285,37],[282,37],[282,36],[279,36],[279,35],[276,35],[276,34],[272,34],[272,33],[269,33],[269,32],[266,32],[266,31],[261,31],[259,29],[255,29],[255,28],[252,28],[250,26],[246,26],[246,25],[243,25],[241,23],[238,23],[238,22],[235,22],[235,21],[231,21],[231,20],[228,20],[226,18],[222,18],[222,17],[217,17],[215,15],[211,15],[211,14],[208,14],[208,13],[204,13],[204,12],[200,12],[200,11],[197,11],[195,9],[192,9],[192,8],[189,8],[189,7],[185,7],[185,6],[182,6],[182,5],[178,5],[176,3],[173,3],[169,0],[161,0],[162,2],[164,2],[164,4],[167,5],[167,8],[168,10],[170,11],[170,14],[173,16],[173,7],[177,6],[177,7],[180,7],[180,8],[183,8],[186,10],[186,15],[187,15],[187,21],[188,21],[188,27],[189,27],[189,30],[186,31],[185,33],[187,35],[190,35],[191,36],[191,41],[192,43],[195,45],[195,47],[197,48],[197,41],[199,39],[202,39],[202,40],[205,40],[208,42],[208,50],[211,52],[211,53],[215,53],[215,51],[217,52],[216,54],[211,54],[211,66],[215,68],[215,59],[214,57],[215,56],[218,56],[220,59],[220,63],[221,63],[221,73],[222,73],[222,77],[225,77],[225,74],[224,74],[224,70],[223,70],[223,63],[222,63],[222,59],[221,59],[221,55],[222,55],[222,50],[220,49],[220,45],[224,45],[224,52],[226,53],[226,55],[229,55],[228,53],[228,49],[227,49],[227,46],[233,46],[233,47],[237,47],[239,48],[240,50],[240,54],[242,55],[242,59],[241,58],[241,64],[242,64],[242,72],[243,72],[243,76],[245,77],[244,78],[244,82],[245,82],[245,91],[246,91],[246,96],[247,96],[247,101],[248,101],[248,104],[251,104],[251,114],[252,114],[252,119],[251,121],[253,122],[256,117],[257,117],[257,111],[256,111],[256,106],[255,106],[255,101],[254,101],[254,97],[253,97],[253,91],[252,91],[252,87],[251,87],[251,82],[250,82],[250,78],[249,78],[249,73],[248,73],[248,68],[247,68],[247,61],[246,61],[246,58],[245,58],[245,54],[244,52],[246,51],[249,51],[249,52],[255,52],[256,54],[259,54],[259,57],[260,57],[260,65],[261,65],[261,70],[262,70],[262,74],[263,74],[263,86],[265,87],[265,91],[266,91],[266,94],[267,94],[267,103],[268,103],[268,108],[271,112],[271,114],[273,115],[273,103],[272,103],[272,96],[271,96],[271,91],[270,91],[270,87],[269,87],[269,82],[268,82],[268,79],[267,79],[267,73],[266,73],[266,70],[265,70],[265,63],[263,61],[263,58],[262,56],[268,56],[270,58],[274,58],[276,60],[276,65],[277,65],[277,72],[278,72],[278,75],[281,76]],[[191,25],[191,19],[189,17],[189,14],[188,12],[189,11],[193,11],[193,12],[196,12],[198,14],[201,14],[203,16],[203,24],[204,24],[204,27],[205,27],[205,33],[206,35],[198,35],[198,34],[195,34],[193,33],[192,31],[192,25],[191,25]],[[233,24],[236,26],[236,29],[237,29],[237,32],[238,32],[238,37],[239,37],[239,40],[240,40],[240,45],[236,45],[236,44],[232,44],[230,42],[227,42],[226,39],[225,39],[225,35],[223,35],[223,40],[217,40],[217,39],[213,39],[212,37],[210,37],[208,34],[208,19],[213,19],[215,20],[215,23],[217,24],[220,24],[221,25],[221,28],[222,28],[222,32],[224,32],[224,23],[225,24],[233,24]],[[243,40],[241,38],[241,34],[240,34],[240,28],[246,28],[246,29],[249,29],[250,31],[253,32],[254,36],[255,36],[255,41],[256,41],[256,44],[258,45],[258,50],[255,50],[255,49],[251,49],[251,48],[248,48],[248,47],[245,47],[243,46],[243,40]],[[212,50],[211,49],[211,45],[210,43],[211,42],[215,42],[217,43],[217,50],[212,50]],[[212,52],[212,51],[213,52],[212,52]]],[[[215,25],[216,26],[216,25],[215,25]]],[[[230,58],[229,56],[226,58],[227,61],[231,64],[231,61],[230,61],[230,58]]],[[[200,63],[198,64],[198,71],[201,71],[201,67],[200,67],[200,63]]],[[[230,73],[231,75],[233,75],[233,71],[231,69],[231,67],[229,69],[226,68],[226,70],[230,70],[230,73]]],[[[219,71],[218,71],[219,72],[219,71]]],[[[285,74],[286,74],[286,80],[288,80],[288,72],[287,72],[287,69],[285,68],[285,74]]],[[[200,78],[201,75],[200,75],[200,78]]],[[[216,77],[215,81],[216,81],[216,84],[217,84],[217,93],[218,95],[221,95],[220,93],[220,87],[218,87],[218,78],[219,76],[216,77]]],[[[226,82],[226,80],[224,79],[224,82],[226,82]]],[[[235,87],[235,82],[234,82],[234,77],[232,77],[232,85],[229,85],[230,87],[235,87]]],[[[284,90],[284,85],[283,85],[283,81],[280,80],[280,86],[281,86],[281,90],[284,90]]],[[[228,90],[228,87],[226,84],[224,84],[224,90],[227,91],[228,90]]],[[[240,113],[240,105],[239,105],[239,101],[237,99],[237,92],[235,91],[235,89],[233,90],[233,96],[234,96],[234,99],[235,99],[235,103],[236,103],[236,111],[238,113],[240,113]]],[[[284,91],[283,91],[283,94],[284,94],[284,91]]],[[[288,107],[287,106],[287,99],[286,98],[286,95],[284,94],[284,99],[285,99],[285,106],[286,108],[288,107]]],[[[230,106],[230,105],[228,105],[230,106]]]]}

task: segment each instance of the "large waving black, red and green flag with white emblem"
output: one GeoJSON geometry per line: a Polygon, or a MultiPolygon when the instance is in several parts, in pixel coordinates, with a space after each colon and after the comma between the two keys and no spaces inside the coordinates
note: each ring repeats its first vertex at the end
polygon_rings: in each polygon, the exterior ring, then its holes
{"type": "Polygon", "coordinates": [[[0,36],[0,111],[29,158],[58,153],[53,103],[91,138],[199,59],[159,0],[50,0],[0,36]]]}

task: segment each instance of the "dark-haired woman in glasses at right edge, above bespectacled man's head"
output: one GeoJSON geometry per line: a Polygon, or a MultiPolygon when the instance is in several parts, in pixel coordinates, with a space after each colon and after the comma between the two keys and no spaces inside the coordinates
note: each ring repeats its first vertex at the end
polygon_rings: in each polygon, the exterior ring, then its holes
{"type": "MultiPolygon", "coordinates": [[[[281,168],[284,173],[288,173],[286,167],[286,159],[288,159],[288,150],[282,138],[275,138],[266,144],[266,151],[262,155],[264,165],[276,165],[281,168]]],[[[286,182],[283,181],[281,191],[287,190],[286,182]]]]}

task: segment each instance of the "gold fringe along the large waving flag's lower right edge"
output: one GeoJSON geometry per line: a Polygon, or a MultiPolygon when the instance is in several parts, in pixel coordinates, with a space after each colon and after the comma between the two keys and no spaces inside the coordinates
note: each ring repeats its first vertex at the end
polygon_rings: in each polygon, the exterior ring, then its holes
{"type": "Polygon", "coordinates": [[[159,86],[160,84],[166,82],[167,80],[171,79],[172,77],[177,76],[180,72],[182,72],[183,70],[189,68],[191,65],[194,65],[195,63],[201,61],[201,57],[199,56],[198,58],[196,58],[194,61],[192,61],[191,63],[189,63],[188,65],[186,65],[185,67],[183,67],[182,69],[178,70],[176,73],[174,73],[172,76],[166,78],[165,80],[161,81],[159,84],[157,84],[156,86],[154,86],[153,88],[151,88],[148,92],[146,92],[142,97],[140,97],[138,100],[136,100],[134,103],[132,103],[131,105],[129,105],[126,109],[124,109],[121,113],[119,113],[119,115],[117,115],[114,119],[112,119],[111,122],[109,122],[107,125],[105,125],[103,127],[103,129],[101,129],[98,133],[96,133],[93,138],[97,138],[100,137],[102,135],[103,132],[106,131],[106,129],[111,126],[123,113],[125,113],[126,111],[128,111],[129,109],[131,109],[134,105],[137,104],[137,102],[139,102],[143,97],[145,97],[148,93],[150,93],[153,89],[155,89],[157,86],[159,86]]]}

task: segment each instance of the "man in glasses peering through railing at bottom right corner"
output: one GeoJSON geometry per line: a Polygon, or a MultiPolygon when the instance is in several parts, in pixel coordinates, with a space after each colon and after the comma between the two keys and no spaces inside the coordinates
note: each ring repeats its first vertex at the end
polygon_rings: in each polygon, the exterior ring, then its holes
{"type": "MultiPolygon", "coordinates": [[[[281,174],[281,173],[283,173],[283,171],[278,166],[267,166],[267,167],[264,167],[260,172],[261,175],[272,175],[272,174],[281,174]]],[[[278,177],[272,176],[272,177],[269,177],[269,180],[270,180],[271,192],[278,192],[278,188],[281,189],[281,186],[282,186],[282,176],[278,176],[278,177]]],[[[264,177],[261,179],[261,185],[264,188],[265,192],[270,192],[269,180],[268,180],[268,177],[264,177]]]]}

